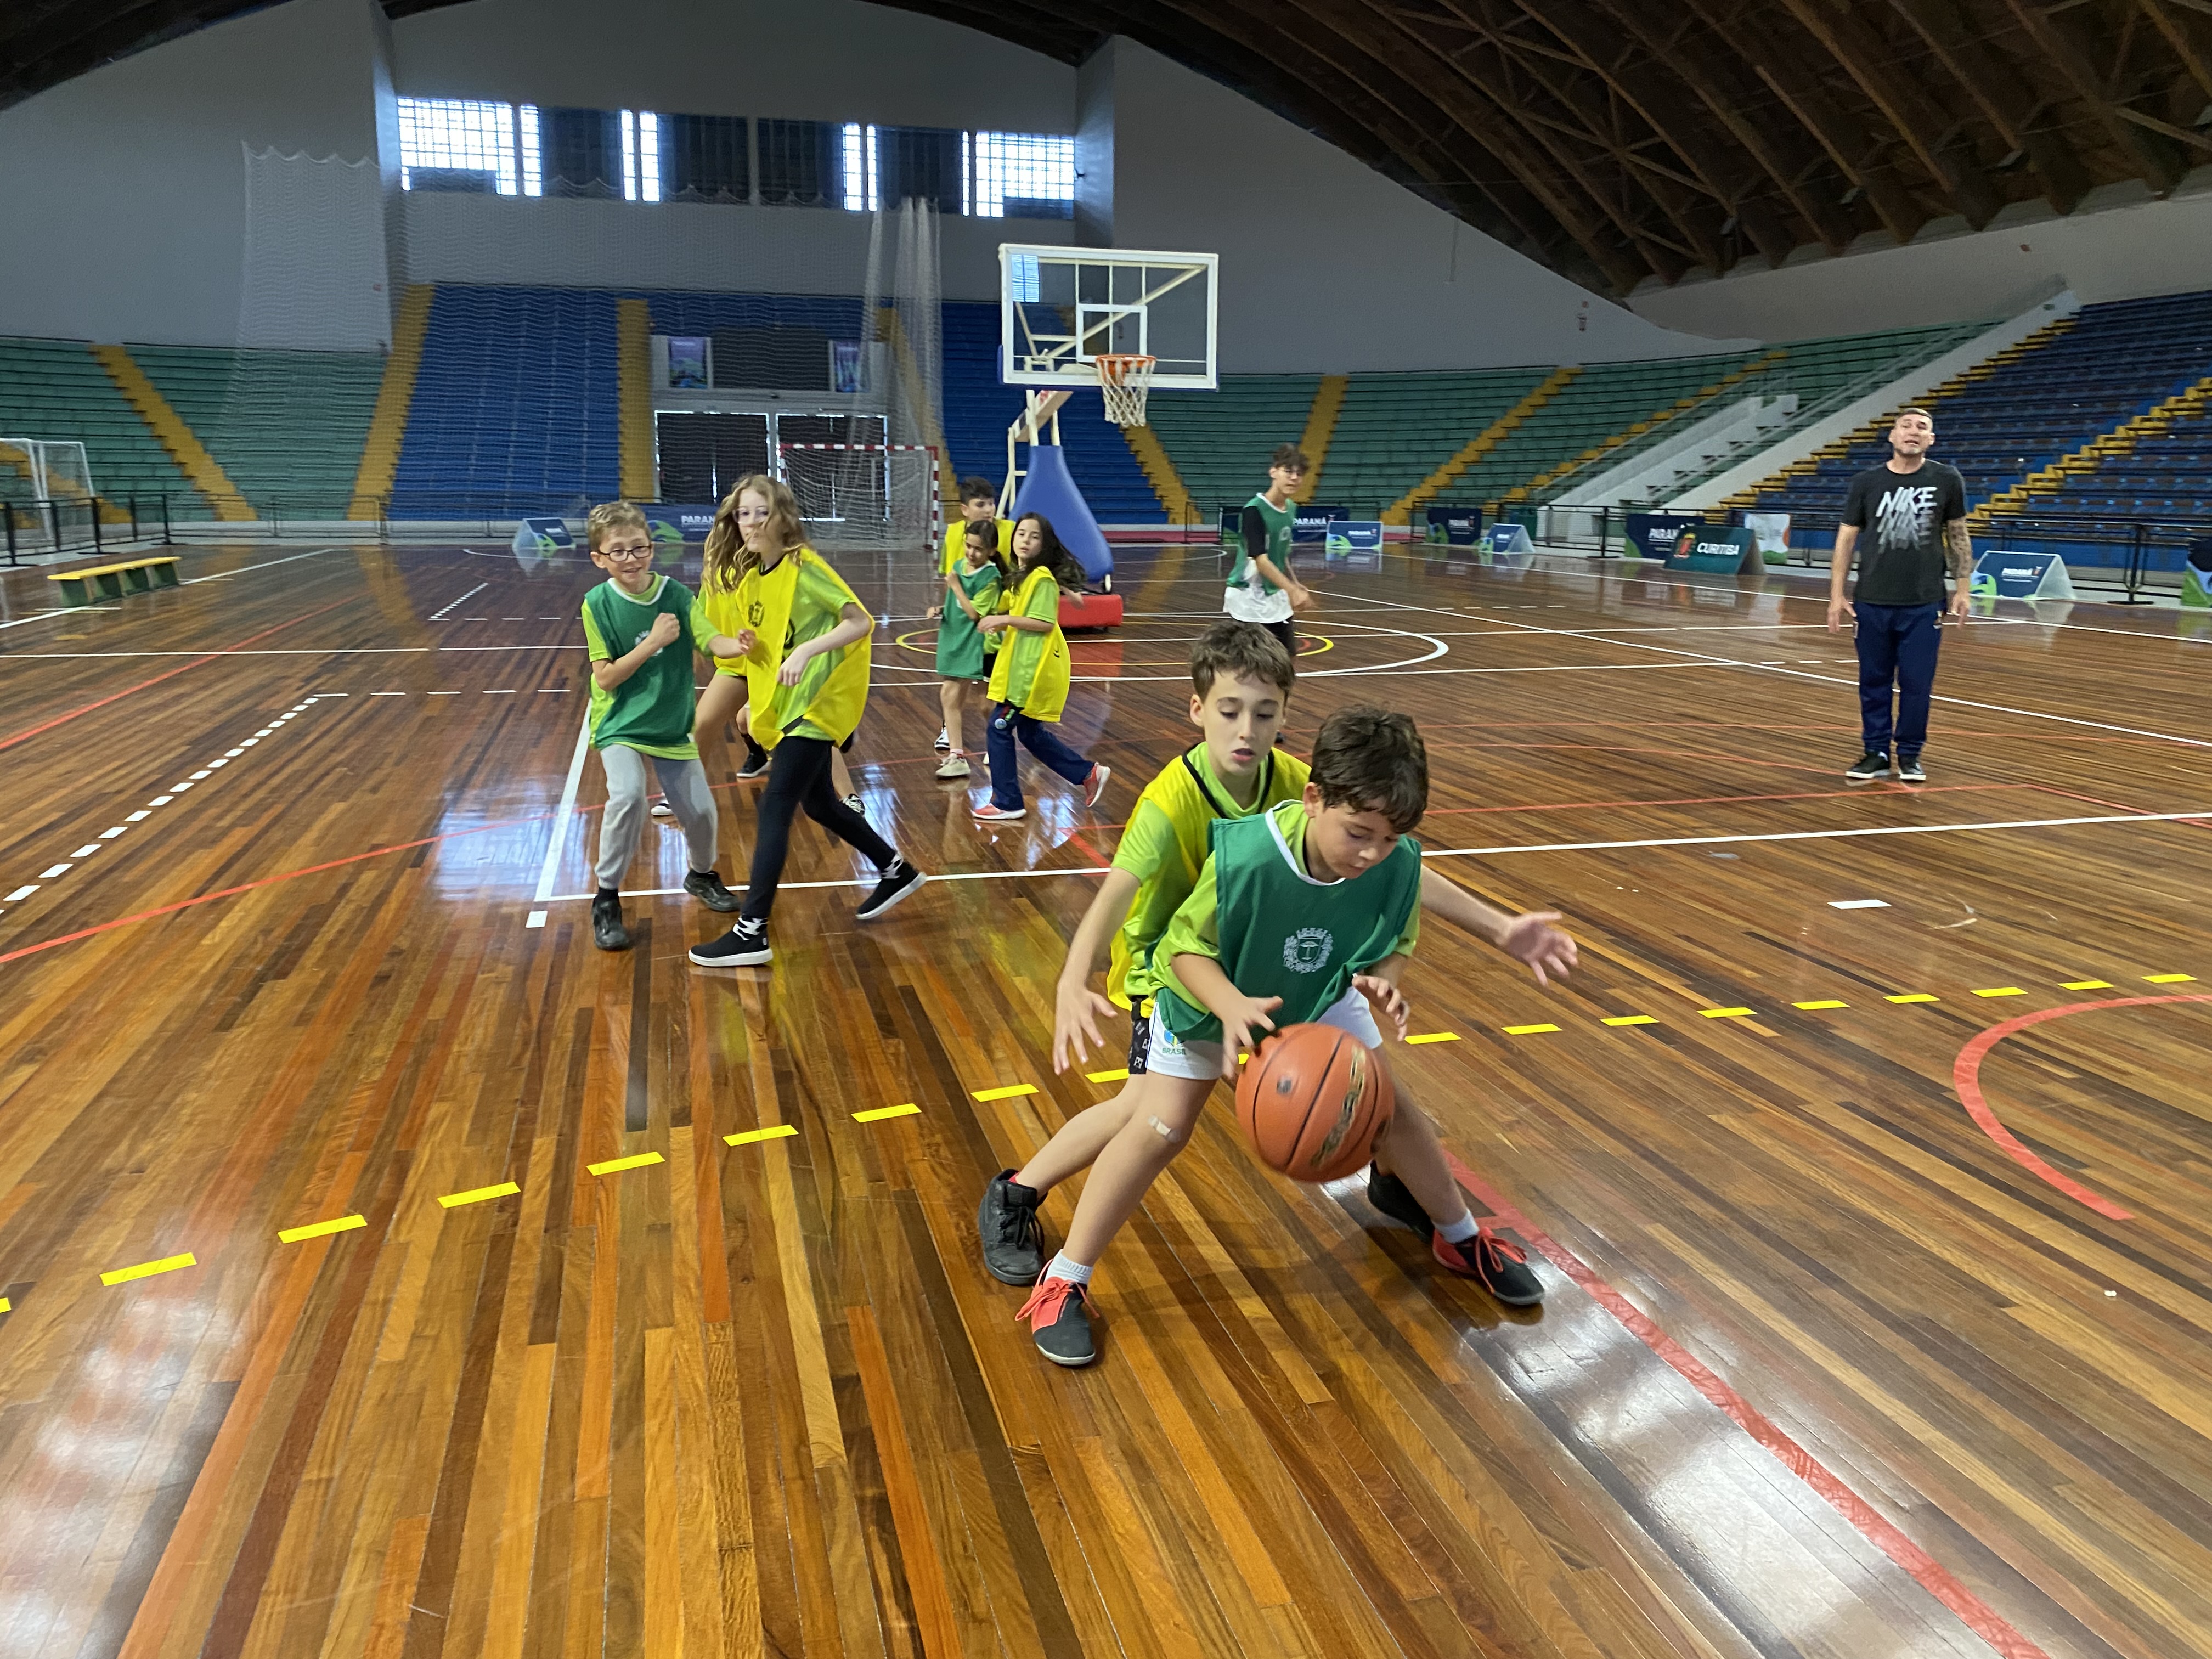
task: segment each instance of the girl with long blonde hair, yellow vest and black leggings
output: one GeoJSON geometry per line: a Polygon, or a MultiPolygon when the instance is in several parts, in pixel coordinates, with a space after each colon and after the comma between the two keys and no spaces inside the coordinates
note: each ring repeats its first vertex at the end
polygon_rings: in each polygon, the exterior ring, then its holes
{"type": "Polygon", "coordinates": [[[867,637],[876,619],[845,577],[805,544],[799,502],[781,480],[757,473],[730,491],[708,531],[701,588],[714,595],[708,615],[728,615],[734,624],[752,739],[770,759],[745,905],[737,927],[692,949],[690,960],[759,967],[770,960],[768,914],[801,810],[876,865],[876,889],[858,920],[876,920],[927,878],[838,801],[830,781],[838,745],[852,741],[867,708],[867,637]]]}

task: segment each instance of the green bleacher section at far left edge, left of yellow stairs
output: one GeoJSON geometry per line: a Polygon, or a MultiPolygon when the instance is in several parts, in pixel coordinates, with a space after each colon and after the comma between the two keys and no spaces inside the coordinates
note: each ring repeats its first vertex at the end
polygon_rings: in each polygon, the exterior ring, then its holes
{"type": "MultiPolygon", "coordinates": [[[[0,438],[82,442],[93,489],[106,500],[135,493],[142,511],[157,515],[155,498],[168,495],[170,518],[208,518],[208,502],[82,341],[0,338],[0,438]]],[[[22,471],[0,467],[0,498],[22,502],[29,493],[22,471]]]]}

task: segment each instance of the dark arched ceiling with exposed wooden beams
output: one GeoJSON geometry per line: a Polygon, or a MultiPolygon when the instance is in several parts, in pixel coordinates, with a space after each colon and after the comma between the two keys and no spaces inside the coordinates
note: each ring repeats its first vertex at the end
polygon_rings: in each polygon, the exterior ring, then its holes
{"type": "MultiPolygon", "coordinates": [[[[2212,0],[880,2],[1068,64],[1130,35],[1613,294],[2212,161],[2212,0]]],[[[250,9],[11,0],[0,106],[250,9]]]]}

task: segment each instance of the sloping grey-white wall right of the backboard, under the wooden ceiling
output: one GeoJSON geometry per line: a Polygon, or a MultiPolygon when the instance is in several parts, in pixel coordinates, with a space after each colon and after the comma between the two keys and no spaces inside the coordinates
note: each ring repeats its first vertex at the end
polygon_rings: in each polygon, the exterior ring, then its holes
{"type": "Polygon", "coordinates": [[[1597,299],[1133,40],[1106,51],[1113,241],[1221,254],[1228,374],[1601,363],[1725,345],[1597,299]]]}

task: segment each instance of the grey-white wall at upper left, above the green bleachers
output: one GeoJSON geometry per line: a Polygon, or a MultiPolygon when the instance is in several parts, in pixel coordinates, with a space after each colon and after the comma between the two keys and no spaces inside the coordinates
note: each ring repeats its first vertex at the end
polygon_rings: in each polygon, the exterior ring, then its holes
{"type": "MultiPolygon", "coordinates": [[[[290,0],[0,111],[0,332],[237,341],[246,148],[374,157],[376,27],[374,0],[290,0]]],[[[383,279],[374,259],[314,265],[378,301],[383,279]]],[[[358,323],[385,303],[334,299],[352,321],[316,343],[389,338],[389,321],[374,338],[358,323]]]]}

